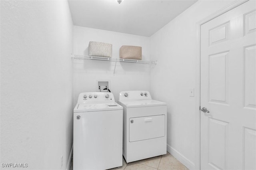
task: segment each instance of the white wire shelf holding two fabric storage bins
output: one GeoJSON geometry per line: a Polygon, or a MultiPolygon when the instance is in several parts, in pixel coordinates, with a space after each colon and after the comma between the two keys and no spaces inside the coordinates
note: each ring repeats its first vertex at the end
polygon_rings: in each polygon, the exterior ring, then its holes
{"type": "Polygon", "coordinates": [[[143,63],[143,64],[156,64],[157,63],[157,61],[110,58],[110,57],[99,57],[99,56],[89,56],[89,55],[72,55],[72,58],[74,58],[74,59],[93,59],[93,60],[114,61],[114,62],[128,62],[128,63],[143,63]]]}

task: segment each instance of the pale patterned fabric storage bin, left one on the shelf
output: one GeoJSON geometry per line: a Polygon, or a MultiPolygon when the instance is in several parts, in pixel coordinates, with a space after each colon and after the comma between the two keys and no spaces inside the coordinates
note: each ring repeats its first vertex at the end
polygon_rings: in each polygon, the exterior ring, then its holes
{"type": "Polygon", "coordinates": [[[88,55],[112,57],[112,44],[102,42],[89,42],[88,55]]]}

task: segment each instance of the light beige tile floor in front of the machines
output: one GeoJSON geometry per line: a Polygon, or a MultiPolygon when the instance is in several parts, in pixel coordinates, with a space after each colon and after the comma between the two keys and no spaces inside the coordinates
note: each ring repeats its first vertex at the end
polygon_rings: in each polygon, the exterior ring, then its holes
{"type": "MultiPolygon", "coordinates": [[[[70,170],[73,170],[73,161],[70,170]]],[[[167,152],[165,155],[130,163],[126,163],[123,158],[123,166],[110,170],[188,170],[188,168],[167,152]]]]}

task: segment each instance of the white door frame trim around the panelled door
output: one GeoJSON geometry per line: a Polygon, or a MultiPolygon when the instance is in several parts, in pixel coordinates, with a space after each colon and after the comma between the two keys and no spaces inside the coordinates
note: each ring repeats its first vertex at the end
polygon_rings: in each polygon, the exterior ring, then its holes
{"type": "Polygon", "coordinates": [[[196,23],[196,84],[195,84],[195,110],[196,110],[196,162],[195,162],[195,169],[200,170],[200,81],[201,81],[201,25],[205,24],[206,22],[244,4],[249,0],[237,0],[232,4],[226,6],[215,12],[214,14],[204,18],[200,22],[196,23]]]}

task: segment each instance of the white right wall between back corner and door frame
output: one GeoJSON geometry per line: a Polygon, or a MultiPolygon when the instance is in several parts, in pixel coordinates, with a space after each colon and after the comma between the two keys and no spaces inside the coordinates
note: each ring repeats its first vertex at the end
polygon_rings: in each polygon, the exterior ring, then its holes
{"type": "Polygon", "coordinates": [[[168,150],[178,152],[176,157],[188,168],[194,168],[198,152],[195,98],[189,97],[196,79],[196,23],[232,2],[199,0],[150,37],[150,59],[158,60],[150,73],[151,95],[167,103],[168,150]]]}

